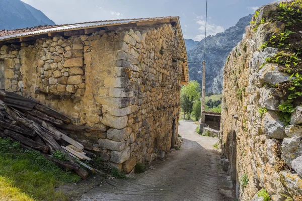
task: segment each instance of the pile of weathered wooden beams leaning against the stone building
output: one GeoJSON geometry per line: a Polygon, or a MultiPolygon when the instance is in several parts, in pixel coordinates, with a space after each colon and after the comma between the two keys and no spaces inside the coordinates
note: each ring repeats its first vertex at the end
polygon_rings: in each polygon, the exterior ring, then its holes
{"type": "MultiPolygon", "coordinates": [[[[85,147],[68,137],[66,130],[90,132],[93,128],[75,126],[60,113],[34,102],[29,98],[0,89],[0,137],[19,141],[20,146],[41,151],[46,158],[62,168],[74,170],[83,179],[88,172],[82,166],[98,171],[81,160],[92,160],[96,155],[92,148],[85,147]],[[56,150],[70,155],[70,160],[61,161],[49,154],[56,150]]],[[[99,172],[99,171],[98,171],[99,172]]]]}

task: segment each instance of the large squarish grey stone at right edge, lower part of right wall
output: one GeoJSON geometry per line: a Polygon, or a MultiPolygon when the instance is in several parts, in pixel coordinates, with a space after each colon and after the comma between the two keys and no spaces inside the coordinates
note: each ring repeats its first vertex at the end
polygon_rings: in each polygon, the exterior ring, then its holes
{"type": "Polygon", "coordinates": [[[294,159],[302,156],[301,137],[284,138],[282,142],[282,158],[289,167],[294,159]]]}

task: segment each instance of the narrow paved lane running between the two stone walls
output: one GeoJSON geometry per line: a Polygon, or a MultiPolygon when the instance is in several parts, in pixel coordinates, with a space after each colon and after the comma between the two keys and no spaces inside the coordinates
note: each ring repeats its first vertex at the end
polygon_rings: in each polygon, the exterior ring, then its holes
{"type": "Polygon", "coordinates": [[[166,161],[155,161],[145,173],[131,179],[113,179],[84,194],[81,200],[230,200],[223,189],[226,176],[221,170],[216,138],[202,137],[193,122],[180,121],[184,138],[180,151],[168,153],[166,161]]]}

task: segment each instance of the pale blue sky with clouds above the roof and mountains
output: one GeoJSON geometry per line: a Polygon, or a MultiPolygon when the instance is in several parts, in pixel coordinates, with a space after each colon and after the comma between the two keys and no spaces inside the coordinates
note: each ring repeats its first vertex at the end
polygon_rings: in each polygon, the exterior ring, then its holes
{"type": "MultiPolygon", "coordinates": [[[[204,38],[206,0],[22,0],[56,24],[179,16],[185,39],[204,38]]],[[[208,0],[207,35],[234,26],[240,18],[275,0],[208,0]]]]}

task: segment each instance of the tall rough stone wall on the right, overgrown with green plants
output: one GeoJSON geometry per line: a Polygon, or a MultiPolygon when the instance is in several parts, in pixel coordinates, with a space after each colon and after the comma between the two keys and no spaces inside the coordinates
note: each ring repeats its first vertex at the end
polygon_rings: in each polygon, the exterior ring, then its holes
{"type": "Polygon", "coordinates": [[[260,8],[224,65],[219,142],[240,200],[302,198],[301,6],[260,8]]]}

